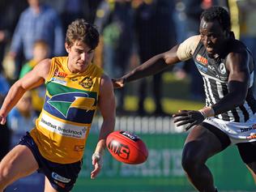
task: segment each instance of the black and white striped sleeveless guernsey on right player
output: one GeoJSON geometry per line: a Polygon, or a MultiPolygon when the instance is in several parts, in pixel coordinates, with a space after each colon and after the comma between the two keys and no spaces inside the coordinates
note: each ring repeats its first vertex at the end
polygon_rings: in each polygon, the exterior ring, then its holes
{"type": "MultiPolygon", "coordinates": [[[[240,41],[233,40],[229,42],[228,49],[233,46],[242,46],[240,41]]],[[[240,47],[241,48],[241,47],[240,47]]],[[[243,49],[243,48],[242,48],[243,49]]],[[[249,50],[247,49],[249,52],[249,50]]],[[[199,42],[194,51],[193,59],[200,74],[203,76],[204,91],[206,94],[206,106],[214,105],[221,98],[228,94],[228,75],[225,62],[230,50],[226,50],[223,56],[218,58],[209,58],[203,43],[199,42]]],[[[251,59],[253,62],[253,59],[251,59]]],[[[256,112],[256,100],[253,96],[252,87],[254,83],[254,70],[250,71],[250,87],[243,105],[238,106],[227,113],[221,113],[215,117],[228,122],[246,122],[256,112]]]]}

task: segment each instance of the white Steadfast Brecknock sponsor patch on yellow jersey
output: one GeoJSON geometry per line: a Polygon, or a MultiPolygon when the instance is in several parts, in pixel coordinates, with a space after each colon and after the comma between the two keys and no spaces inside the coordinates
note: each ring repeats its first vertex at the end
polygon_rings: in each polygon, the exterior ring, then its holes
{"type": "Polygon", "coordinates": [[[85,139],[87,126],[74,126],[59,122],[47,114],[42,114],[39,125],[50,132],[75,139],[85,139]]]}

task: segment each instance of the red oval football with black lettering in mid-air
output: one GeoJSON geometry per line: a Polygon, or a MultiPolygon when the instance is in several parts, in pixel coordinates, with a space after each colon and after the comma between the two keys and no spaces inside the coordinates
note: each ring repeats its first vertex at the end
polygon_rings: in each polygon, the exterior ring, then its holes
{"type": "Polygon", "coordinates": [[[113,131],[106,143],[110,154],[123,163],[142,164],[147,160],[147,146],[136,134],[124,130],[113,131]]]}

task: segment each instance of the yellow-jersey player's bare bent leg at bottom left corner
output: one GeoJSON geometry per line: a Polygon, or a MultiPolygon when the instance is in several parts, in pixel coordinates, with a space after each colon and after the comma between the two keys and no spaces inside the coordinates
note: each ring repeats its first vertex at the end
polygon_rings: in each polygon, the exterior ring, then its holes
{"type": "Polygon", "coordinates": [[[0,162],[0,191],[36,169],[38,164],[32,151],[24,145],[17,145],[0,162]]]}

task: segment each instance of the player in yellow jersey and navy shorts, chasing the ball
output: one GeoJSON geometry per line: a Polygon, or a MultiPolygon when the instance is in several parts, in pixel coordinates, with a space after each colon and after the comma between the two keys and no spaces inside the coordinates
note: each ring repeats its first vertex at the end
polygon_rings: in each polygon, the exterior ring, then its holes
{"type": "Polygon", "coordinates": [[[105,139],[114,129],[115,100],[111,79],[92,64],[98,43],[96,28],[76,19],[66,32],[68,57],[43,60],[11,87],[0,109],[1,124],[24,92],[45,83],[46,96],[35,128],[0,162],[0,191],[36,170],[45,174],[45,192],[70,191],[96,109],[104,121],[92,155],[91,178],[100,173],[105,139]]]}

